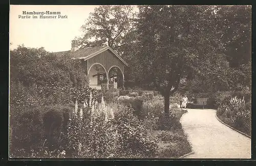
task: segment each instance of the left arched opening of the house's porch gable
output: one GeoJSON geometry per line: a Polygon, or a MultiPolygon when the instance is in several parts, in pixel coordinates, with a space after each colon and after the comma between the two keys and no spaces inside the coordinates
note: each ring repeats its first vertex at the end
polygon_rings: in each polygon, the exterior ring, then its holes
{"type": "Polygon", "coordinates": [[[99,64],[93,64],[89,69],[89,85],[91,88],[101,89],[101,84],[106,84],[107,80],[105,68],[99,64]]]}

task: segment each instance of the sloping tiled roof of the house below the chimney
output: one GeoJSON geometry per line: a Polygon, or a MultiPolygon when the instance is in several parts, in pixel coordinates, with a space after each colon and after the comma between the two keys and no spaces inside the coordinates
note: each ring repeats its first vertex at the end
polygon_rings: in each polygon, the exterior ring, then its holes
{"type": "Polygon", "coordinates": [[[101,49],[106,48],[106,47],[108,47],[108,46],[82,48],[82,49],[78,49],[74,52],[61,51],[61,52],[53,52],[53,53],[60,57],[68,53],[70,55],[70,58],[74,58],[74,59],[85,58],[86,59],[86,57],[88,57],[91,54],[93,54],[97,51],[100,51],[101,49]]]}

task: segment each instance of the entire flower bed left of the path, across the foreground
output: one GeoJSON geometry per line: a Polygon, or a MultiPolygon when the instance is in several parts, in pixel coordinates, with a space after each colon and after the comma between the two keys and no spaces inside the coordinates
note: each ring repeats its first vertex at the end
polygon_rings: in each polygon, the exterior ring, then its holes
{"type": "Polygon", "coordinates": [[[106,102],[100,95],[108,93],[92,91],[75,90],[75,103],[14,102],[10,107],[10,156],[172,158],[191,149],[179,124],[183,110],[173,106],[171,117],[161,118],[161,96],[113,96],[106,102]],[[173,139],[168,142],[163,133],[173,139]],[[163,145],[167,145],[165,152],[161,151],[163,145]]]}

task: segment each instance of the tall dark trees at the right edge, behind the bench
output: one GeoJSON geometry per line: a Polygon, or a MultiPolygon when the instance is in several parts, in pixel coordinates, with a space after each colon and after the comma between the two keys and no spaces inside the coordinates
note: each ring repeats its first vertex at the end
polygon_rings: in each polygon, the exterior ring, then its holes
{"type": "Polygon", "coordinates": [[[201,92],[250,87],[250,6],[212,6],[211,11],[208,33],[217,36],[217,53],[194,62],[191,81],[199,83],[194,87],[201,92]]]}

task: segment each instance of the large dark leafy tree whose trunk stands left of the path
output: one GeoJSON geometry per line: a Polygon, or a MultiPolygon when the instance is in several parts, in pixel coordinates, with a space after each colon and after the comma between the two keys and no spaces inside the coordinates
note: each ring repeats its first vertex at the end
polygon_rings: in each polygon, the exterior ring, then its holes
{"type": "MultiPolygon", "coordinates": [[[[161,92],[167,115],[169,96],[179,89],[181,78],[195,74],[203,80],[217,77],[222,85],[229,86],[230,82],[224,79],[228,77],[229,64],[223,52],[227,51],[228,43],[237,40],[223,38],[228,26],[221,22],[233,15],[223,14],[220,11],[225,8],[221,9],[221,6],[139,7],[133,73],[140,84],[161,92]]],[[[232,23],[230,19],[229,27],[232,23]]]]}

